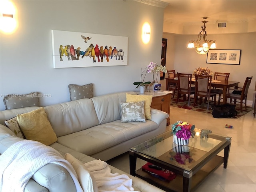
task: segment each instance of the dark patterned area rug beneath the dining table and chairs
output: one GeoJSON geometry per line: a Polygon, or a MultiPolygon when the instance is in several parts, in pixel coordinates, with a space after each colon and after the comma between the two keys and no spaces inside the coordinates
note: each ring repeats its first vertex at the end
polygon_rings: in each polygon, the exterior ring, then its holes
{"type": "MultiPolygon", "coordinates": [[[[198,111],[198,112],[203,112],[203,113],[207,113],[207,114],[212,114],[212,107],[211,106],[212,106],[213,102],[210,102],[209,110],[207,110],[207,103],[202,102],[202,104],[199,104],[199,101],[198,101],[198,104],[196,104],[194,107],[193,107],[193,104],[194,104],[194,99],[190,99],[190,104],[188,106],[188,101],[182,101],[180,99],[180,102],[176,103],[176,98],[174,97],[171,100],[170,106],[183,108],[183,109],[188,109],[188,110],[193,110],[193,111],[198,111]]],[[[220,103],[220,104],[222,104],[222,103],[220,103]]],[[[248,107],[248,106],[246,106],[246,110],[245,110],[245,108],[243,106],[243,112],[241,112],[240,111],[240,103],[236,104],[235,108],[236,108],[236,111],[237,111],[237,116],[233,117],[234,119],[242,117],[244,114],[253,110],[252,107],[248,107]]]]}

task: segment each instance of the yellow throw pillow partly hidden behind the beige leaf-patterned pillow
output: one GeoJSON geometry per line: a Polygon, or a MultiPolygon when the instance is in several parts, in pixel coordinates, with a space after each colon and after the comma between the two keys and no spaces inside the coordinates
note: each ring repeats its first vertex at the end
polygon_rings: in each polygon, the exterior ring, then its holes
{"type": "Polygon", "coordinates": [[[152,102],[152,95],[132,95],[126,93],[126,102],[139,102],[145,101],[145,116],[146,119],[151,120],[150,106],[152,102]]]}

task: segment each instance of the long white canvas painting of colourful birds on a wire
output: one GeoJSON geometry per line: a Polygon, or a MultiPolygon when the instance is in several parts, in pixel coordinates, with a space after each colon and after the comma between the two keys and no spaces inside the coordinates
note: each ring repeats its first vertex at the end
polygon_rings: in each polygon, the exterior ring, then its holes
{"type": "Polygon", "coordinates": [[[127,65],[128,37],[52,30],[54,68],[127,65]]]}

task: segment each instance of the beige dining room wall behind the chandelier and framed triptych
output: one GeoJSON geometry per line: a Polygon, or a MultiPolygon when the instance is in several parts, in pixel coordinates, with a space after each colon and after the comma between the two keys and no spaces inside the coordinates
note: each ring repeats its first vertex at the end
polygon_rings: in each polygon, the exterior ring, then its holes
{"type": "MultiPolygon", "coordinates": [[[[229,72],[229,80],[239,81],[240,87],[243,86],[246,77],[253,76],[247,96],[248,104],[252,104],[252,96],[256,81],[256,32],[210,34],[207,37],[208,40],[216,40],[216,49],[241,49],[240,65],[206,63],[207,54],[200,55],[197,54],[194,49],[186,48],[189,40],[196,40],[196,34],[163,34],[163,38],[168,38],[168,57],[174,55],[173,58],[169,58],[169,62],[166,62],[168,70],[175,69],[176,72],[193,73],[194,69],[199,66],[208,67],[213,72],[229,72]]],[[[168,57],[166,58],[166,61],[168,57]]]]}

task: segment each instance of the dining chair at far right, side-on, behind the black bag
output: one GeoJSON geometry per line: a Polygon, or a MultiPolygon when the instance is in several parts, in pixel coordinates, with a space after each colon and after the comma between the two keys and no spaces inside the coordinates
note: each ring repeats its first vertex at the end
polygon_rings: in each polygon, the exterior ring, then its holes
{"type": "Polygon", "coordinates": [[[228,88],[227,98],[230,98],[230,103],[232,103],[233,99],[234,99],[234,104],[236,104],[236,102],[240,103],[241,112],[243,112],[243,103],[246,110],[247,93],[248,93],[248,89],[251,84],[251,81],[252,81],[252,77],[246,77],[244,86],[242,88],[241,87],[238,87],[238,89],[228,88]],[[240,102],[236,100],[240,100],[240,102]]]}

